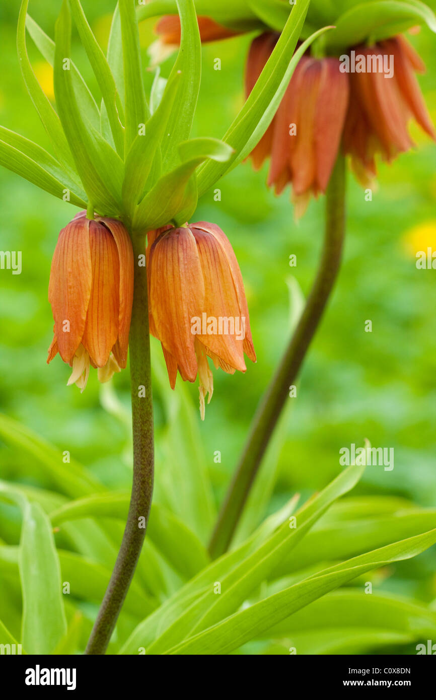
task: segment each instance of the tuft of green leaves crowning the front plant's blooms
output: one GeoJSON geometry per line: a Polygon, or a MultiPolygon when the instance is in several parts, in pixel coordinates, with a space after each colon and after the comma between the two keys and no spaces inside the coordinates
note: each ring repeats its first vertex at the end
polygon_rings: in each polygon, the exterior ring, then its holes
{"type": "MultiPolygon", "coordinates": [[[[114,216],[134,230],[183,224],[194,214],[198,196],[243,160],[267,130],[304,48],[293,57],[309,0],[300,0],[289,14],[275,0],[276,25],[284,29],[251,96],[227,130],[223,141],[190,140],[201,79],[201,43],[197,12],[214,3],[177,0],[151,3],[136,13],[134,0],[115,8],[107,56],[87,22],[80,0],[64,0],[55,27],[55,41],[27,15],[22,0],[17,50],[22,76],[54,155],[19,134],[0,130],[0,163],[89,216],[114,216]],[[151,10],[150,10],[151,8],[151,10]],[[285,12],[283,12],[283,9],[285,12]],[[138,21],[156,11],[178,12],[181,48],[168,80],[156,76],[150,106],[144,90],[138,21]],[[71,57],[71,24],[101,90],[101,106],[71,57]],[[56,109],[45,96],[31,68],[26,29],[54,69],[56,109]]],[[[261,3],[223,3],[218,19],[243,19],[244,27],[262,27],[261,3]],[[260,14],[259,14],[260,13],[260,14]],[[253,21],[254,20],[254,21],[253,21]]],[[[264,17],[265,20],[265,17],[264,17]]],[[[228,22],[227,22],[228,23],[228,22]]],[[[323,30],[321,30],[323,31],[323,30]]]]}

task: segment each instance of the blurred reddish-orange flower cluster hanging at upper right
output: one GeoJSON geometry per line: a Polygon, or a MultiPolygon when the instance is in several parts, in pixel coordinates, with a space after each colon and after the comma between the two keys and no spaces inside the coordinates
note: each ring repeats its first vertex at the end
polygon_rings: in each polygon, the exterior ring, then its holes
{"type": "MultiPolygon", "coordinates": [[[[248,54],[246,94],[253,90],[278,34],[268,31],[254,39],[248,54]]],[[[291,183],[296,214],[302,214],[311,195],[325,193],[341,141],[351,155],[353,169],[367,183],[377,173],[375,156],[392,160],[414,144],[408,123],[414,118],[436,139],[415,71],[425,66],[403,36],[374,46],[361,46],[355,55],[384,66],[393,57],[393,75],[386,71],[345,72],[341,59],[304,55],[269,129],[251,158],[259,169],[271,158],[268,184],[276,193],[291,183]],[[379,62],[377,59],[381,58],[379,62]]]]}

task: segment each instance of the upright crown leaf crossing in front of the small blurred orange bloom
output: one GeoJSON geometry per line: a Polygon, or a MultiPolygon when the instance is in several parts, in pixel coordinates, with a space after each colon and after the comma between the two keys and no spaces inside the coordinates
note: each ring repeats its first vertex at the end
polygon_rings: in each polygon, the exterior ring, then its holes
{"type": "Polygon", "coordinates": [[[202,75],[202,45],[194,3],[192,0],[177,0],[177,7],[181,20],[181,44],[170,79],[180,71],[181,80],[168,122],[168,135],[162,141],[164,172],[174,168],[178,162],[178,144],[189,138],[202,75]]]}

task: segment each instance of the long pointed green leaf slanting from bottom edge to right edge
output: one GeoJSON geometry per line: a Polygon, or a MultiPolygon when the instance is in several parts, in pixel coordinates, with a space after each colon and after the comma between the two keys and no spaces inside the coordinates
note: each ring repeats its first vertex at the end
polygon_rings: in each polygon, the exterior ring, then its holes
{"type": "Polygon", "coordinates": [[[229,654],[241,645],[270,629],[293,612],[342,584],[379,566],[411,559],[436,542],[436,530],[395,542],[309,577],[274,596],[251,605],[231,617],[182,642],[169,654],[229,654]]]}

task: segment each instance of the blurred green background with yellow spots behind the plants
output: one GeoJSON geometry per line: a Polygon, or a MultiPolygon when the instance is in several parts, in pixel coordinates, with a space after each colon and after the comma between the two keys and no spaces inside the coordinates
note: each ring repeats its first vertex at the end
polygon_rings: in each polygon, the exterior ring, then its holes
{"type": "MultiPolygon", "coordinates": [[[[20,76],[15,49],[19,6],[18,0],[3,0],[0,8],[0,123],[50,150],[20,76]]],[[[115,3],[84,0],[83,6],[105,46],[115,3]]],[[[53,36],[59,7],[59,1],[43,6],[30,3],[29,12],[53,36]]],[[[152,36],[153,22],[143,23],[145,68],[152,36]]],[[[251,38],[247,35],[204,47],[195,135],[222,137],[243,104],[244,62],[251,38]],[[221,60],[220,71],[213,69],[216,58],[221,60]]],[[[428,66],[419,82],[436,122],[435,36],[422,29],[409,40],[428,66]]],[[[28,48],[36,76],[53,97],[50,66],[30,38],[28,48]]],[[[98,95],[77,36],[74,48],[80,71],[98,95]]],[[[162,66],[164,76],[169,66],[171,59],[162,66]]],[[[149,72],[148,86],[152,78],[149,72]]],[[[351,443],[363,445],[365,438],[374,447],[393,447],[395,465],[392,471],[367,467],[356,494],[400,496],[421,506],[435,505],[436,270],[417,269],[415,255],[428,246],[436,251],[436,145],[417,127],[412,127],[412,134],[414,151],[392,165],[380,165],[372,202],[365,201],[363,189],[349,174],[342,271],[304,364],[297,398],[289,399],[270,512],[296,491],[309,496],[325,486],[340,470],[339,449],[351,443]],[[365,332],[367,320],[372,321],[372,332],[365,332]]],[[[189,435],[192,453],[181,456],[188,435],[180,429],[182,423],[168,422],[167,379],[162,379],[158,347],[154,354],[157,472],[172,479],[175,493],[183,493],[189,484],[178,483],[185,478],[180,476],[178,460],[201,458],[214,484],[216,504],[223,497],[255,407],[288,340],[290,298],[295,311],[296,290],[308,292],[323,237],[323,199],[311,202],[307,214],[295,223],[288,190],[274,197],[265,186],[266,176],[266,167],[255,173],[246,162],[219,183],[220,202],[214,201],[213,193],[199,202],[195,221],[220,225],[237,254],[258,362],[248,361],[245,375],[214,372],[215,391],[204,423],[197,412],[197,386],[182,387],[178,378],[176,396],[187,392],[195,415],[194,434],[189,435]],[[297,255],[297,267],[289,266],[292,253],[297,255]],[[177,440],[180,453],[174,447],[177,440]],[[220,462],[214,461],[216,451],[220,451],[220,462]]],[[[0,212],[0,249],[22,251],[22,274],[0,271],[1,412],[62,451],[71,451],[73,458],[106,484],[127,489],[128,372],[117,375],[113,386],[103,391],[97,374],[91,372],[80,395],[76,386],[66,387],[69,367],[59,356],[50,366],[45,363],[52,337],[47,300],[50,260],[59,230],[76,209],[0,169],[0,212]]],[[[28,461],[19,450],[0,443],[1,479],[49,486],[28,461]]],[[[157,498],[159,489],[158,484],[157,498]]],[[[209,526],[204,528],[206,538],[209,526]]],[[[9,526],[0,524],[0,538],[13,544],[14,536],[9,526]]],[[[434,572],[434,557],[427,552],[395,566],[381,587],[430,602],[436,596],[434,572]]]]}

